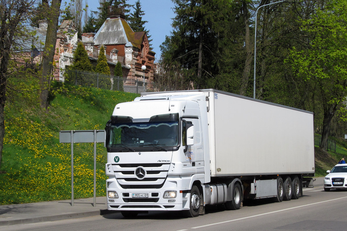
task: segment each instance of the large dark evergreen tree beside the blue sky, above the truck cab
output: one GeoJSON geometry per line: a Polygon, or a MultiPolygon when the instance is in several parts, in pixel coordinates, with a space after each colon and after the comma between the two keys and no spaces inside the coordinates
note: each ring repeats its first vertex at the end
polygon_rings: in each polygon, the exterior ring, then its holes
{"type": "MultiPolygon", "coordinates": [[[[227,0],[173,0],[176,17],[172,36],[166,44],[164,59],[177,61],[191,69],[195,88],[211,87],[219,71],[221,40],[229,20],[227,0]]],[[[167,60],[165,60],[167,62],[167,60]]]]}

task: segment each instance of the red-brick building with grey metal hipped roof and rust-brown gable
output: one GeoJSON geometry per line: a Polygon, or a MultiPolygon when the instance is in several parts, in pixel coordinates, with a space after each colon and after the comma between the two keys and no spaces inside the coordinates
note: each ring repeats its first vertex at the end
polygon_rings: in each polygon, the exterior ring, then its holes
{"type": "MultiPolygon", "coordinates": [[[[142,82],[145,76],[146,86],[148,81],[153,80],[155,53],[150,50],[147,34],[134,32],[123,14],[109,15],[94,36],[91,33],[82,34],[82,42],[90,56],[95,56],[98,53],[95,50],[103,45],[109,60],[121,62],[125,83],[134,80],[142,82]],[[143,65],[146,66],[145,71],[141,69],[143,65]]],[[[111,68],[110,71],[113,73],[111,68]]]]}

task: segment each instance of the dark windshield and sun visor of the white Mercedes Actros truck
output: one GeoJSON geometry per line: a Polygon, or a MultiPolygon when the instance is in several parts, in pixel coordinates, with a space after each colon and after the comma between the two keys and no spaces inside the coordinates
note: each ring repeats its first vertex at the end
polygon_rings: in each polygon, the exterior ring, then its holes
{"type": "Polygon", "coordinates": [[[178,145],[178,114],[156,115],[147,119],[112,116],[106,126],[107,148],[150,147],[167,151],[178,145]]]}

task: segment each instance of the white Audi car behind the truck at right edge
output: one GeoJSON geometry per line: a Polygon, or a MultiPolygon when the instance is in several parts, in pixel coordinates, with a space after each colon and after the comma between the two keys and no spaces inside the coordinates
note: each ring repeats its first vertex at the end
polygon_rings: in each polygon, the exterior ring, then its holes
{"type": "Polygon", "coordinates": [[[324,191],[329,192],[331,188],[347,189],[347,164],[337,164],[331,170],[327,171],[328,175],[324,177],[324,191]]]}

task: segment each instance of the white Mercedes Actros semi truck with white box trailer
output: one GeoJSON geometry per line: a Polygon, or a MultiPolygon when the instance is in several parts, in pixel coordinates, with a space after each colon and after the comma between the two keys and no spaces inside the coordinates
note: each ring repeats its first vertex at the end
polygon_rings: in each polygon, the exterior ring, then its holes
{"type": "Polygon", "coordinates": [[[214,89],[143,93],[105,132],[107,207],[126,217],[297,199],[314,176],[313,113],[214,89]]]}

